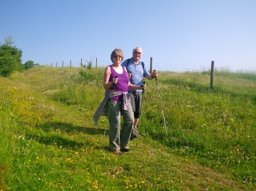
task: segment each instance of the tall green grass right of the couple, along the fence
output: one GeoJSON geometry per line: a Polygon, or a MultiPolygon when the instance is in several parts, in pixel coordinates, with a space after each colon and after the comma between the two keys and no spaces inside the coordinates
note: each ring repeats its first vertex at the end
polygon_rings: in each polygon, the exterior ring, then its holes
{"type": "Polygon", "coordinates": [[[254,77],[243,75],[241,79],[239,74],[217,73],[211,90],[209,75],[170,73],[160,76],[169,137],[165,137],[163,130],[158,98],[152,97],[157,94],[154,90],[149,90],[149,97],[144,101],[145,132],[181,156],[196,157],[199,163],[218,171],[228,167],[241,182],[255,183],[254,77]]]}

